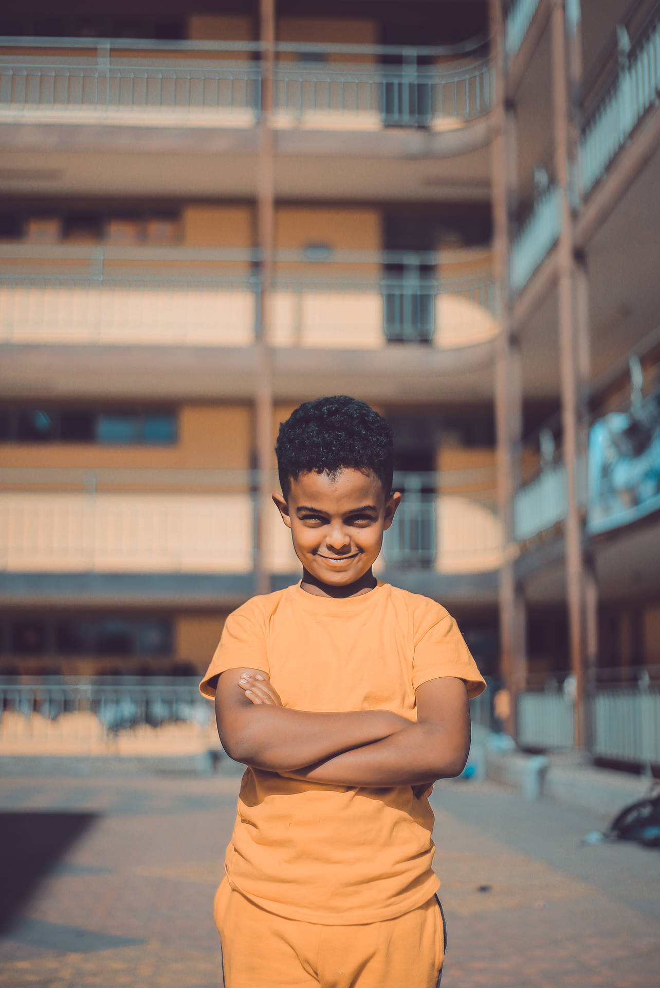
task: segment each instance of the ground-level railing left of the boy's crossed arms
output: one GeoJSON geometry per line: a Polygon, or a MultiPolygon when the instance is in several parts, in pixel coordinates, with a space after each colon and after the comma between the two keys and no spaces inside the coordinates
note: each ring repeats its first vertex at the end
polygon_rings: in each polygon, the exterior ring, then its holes
{"type": "Polygon", "coordinates": [[[217,748],[188,678],[0,678],[0,755],[181,756],[217,748]]]}

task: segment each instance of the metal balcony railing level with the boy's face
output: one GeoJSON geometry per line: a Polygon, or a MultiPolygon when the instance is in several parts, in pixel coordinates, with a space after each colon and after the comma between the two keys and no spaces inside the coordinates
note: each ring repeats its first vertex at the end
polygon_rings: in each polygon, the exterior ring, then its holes
{"type": "MultiPolygon", "coordinates": [[[[249,573],[255,564],[251,471],[6,468],[0,484],[6,572],[249,573]]],[[[401,474],[397,484],[403,504],[385,535],[381,569],[497,569],[491,469],[401,474]]],[[[266,525],[268,569],[297,572],[274,508],[266,525]]]]}

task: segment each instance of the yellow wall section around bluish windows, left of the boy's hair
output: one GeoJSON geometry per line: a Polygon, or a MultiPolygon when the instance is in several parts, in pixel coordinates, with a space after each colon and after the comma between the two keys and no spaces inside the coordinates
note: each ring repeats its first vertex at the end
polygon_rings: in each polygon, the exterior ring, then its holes
{"type": "Polygon", "coordinates": [[[253,413],[248,405],[185,405],[175,446],[94,444],[7,444],[4,466],[152,467],[248,469],[253,446],[253,413]]]}

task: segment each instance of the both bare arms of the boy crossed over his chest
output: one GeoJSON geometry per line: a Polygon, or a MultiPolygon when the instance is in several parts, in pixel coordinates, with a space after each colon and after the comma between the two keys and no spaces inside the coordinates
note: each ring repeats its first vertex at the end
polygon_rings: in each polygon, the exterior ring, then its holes
{"type": "Polygon", "coordinates": [[[222,745],[237,762],[330,785],[411,785],[420,794],[463,771],[470,707],[465,683],[453,677],[422,684],[415,700],[416,723],[390,710],[293,710],[265,673],[230,669],[218,679],[215,710],[222,745]]]}

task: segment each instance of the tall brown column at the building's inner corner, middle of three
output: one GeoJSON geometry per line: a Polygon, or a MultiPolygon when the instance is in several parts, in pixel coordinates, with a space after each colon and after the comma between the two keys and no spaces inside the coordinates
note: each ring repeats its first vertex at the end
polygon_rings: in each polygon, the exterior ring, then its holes
{"type": "MultiPolygon", "coordinates": [[[[497,500],[502,525],[502,562],[499,574],[500,675],[509,693],[506,729],[516,730],[516,697],[524,689],[525,654],[521,650],[521,594],[514,565],[517,545],[513,498],[519,482],[522,437],[522,375],[520,347],[512,332],[509,292],[510,217],[515,208],[515,120],[506,98],[506,52],[501,0],[489,2],[490,39],[495,65],[497,102],[493,113],[492,151],[493,246],[495,277],[500,288],[500,330],[495,354],[495,431],[497,437],[497,500]]],[[[523,608],[524,614],[524,608],[523,608]]]]}

